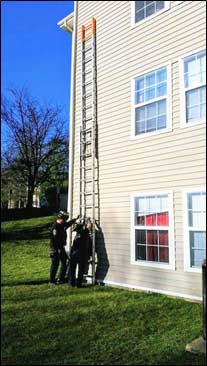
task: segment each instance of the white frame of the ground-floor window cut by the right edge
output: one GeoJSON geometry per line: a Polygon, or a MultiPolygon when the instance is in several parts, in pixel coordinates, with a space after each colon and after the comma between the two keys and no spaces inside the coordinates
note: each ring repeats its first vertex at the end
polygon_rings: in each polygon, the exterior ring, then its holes
{"type": "MultiPolygon", "coordinates": [[[[200,193],[206,192],[205,187],[198,187],[198,188],[186,188],[183,189],[183,235],[184,235],[184,271],[185,272],[194,272],[194,273],[201,273],[202,268],[191,267],[191,258],[190,258],[190,240],[189,240],[189,229],[188,225],[188,194],[189,193],[200,193]]],[[[192,231],[205,231],[206,228],[193,228],[192,231]]]]}

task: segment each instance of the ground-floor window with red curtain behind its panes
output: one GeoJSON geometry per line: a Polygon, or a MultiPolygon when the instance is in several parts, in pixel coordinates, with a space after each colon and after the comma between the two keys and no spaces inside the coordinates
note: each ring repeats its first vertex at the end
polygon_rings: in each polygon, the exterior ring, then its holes
{"type": "Polygon", "coordinates": [[[135,263],[172,265],[170,194],[134,197],[132,256],[135,263]]]}

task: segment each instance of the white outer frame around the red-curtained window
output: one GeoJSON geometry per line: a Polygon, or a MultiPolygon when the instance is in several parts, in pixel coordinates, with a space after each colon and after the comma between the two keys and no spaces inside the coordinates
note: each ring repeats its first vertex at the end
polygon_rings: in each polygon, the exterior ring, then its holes
{"type": "MultiPolygon", "coordinates": [[[[157,227],[159,230],[166,230],[166,226],[157,227]]],[[[147,226],[149,230],[155,230],[155,226],[147,226]]],[[[173,191],[155,191],[155,192],[135,192],[131,195],[131,264],[135,266],[161,268],[175,271],[175,235],[174,235],[174,211],[173,211],[173,191]],[[162,196],[168,195],[169,207],[169,263],[151,262],[144,260],[135,260],[135,229],[145,229],[146,226],[137,226],[134,224],[135,198],[143,196],[162,196]]]]}

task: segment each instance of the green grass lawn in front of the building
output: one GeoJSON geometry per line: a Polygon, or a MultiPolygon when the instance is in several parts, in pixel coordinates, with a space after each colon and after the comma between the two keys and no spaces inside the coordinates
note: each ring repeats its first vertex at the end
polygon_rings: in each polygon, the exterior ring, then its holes
{"type": "Polygon", "coordinates": [[[200,304],[103,286],[48,287],[52,221],[2,224],[2,365],[205,365],[203,355],[185,352],[201,335],[200,304]]]}

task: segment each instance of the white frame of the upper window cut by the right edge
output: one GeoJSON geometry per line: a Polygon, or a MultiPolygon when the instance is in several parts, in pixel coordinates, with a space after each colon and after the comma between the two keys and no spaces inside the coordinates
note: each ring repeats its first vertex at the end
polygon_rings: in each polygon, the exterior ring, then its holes
{"type": "Polygon", "coordinates": [[[192,52],[189,52],[183,56],[181,56],[179,59],[178,59],[178,63],[179,63],[179,77],[180,77],[180,127],[181,128],[187,128],[187,127],[192,127],[192,126],[197,126],[201,123],[205,123],[206,122],[206,119],[204,118],[203,120],[201,121],[194,121],[194,122],[186,122],[186,98],[185,98],[185,93],[186,91],[188,90],[193,90],[193,89],[196,89],[196,88],[200,88],[202,86],[205,86],[206,83],[200,83],[199,85],[196,85],[195,87],[193,88],[185,88],[185,81],[184,81],[184,59],[187,58],[187,57],[190,57],[190,56],[193,56],[193,55],[196,55],[197,53],[200,53],[202,51],[205,51],[206,48],[203,47],[203,48],[200,48],[200,49],[197,49],[195,51],[192,51],[192,52]]]}

